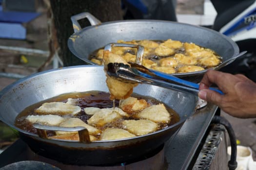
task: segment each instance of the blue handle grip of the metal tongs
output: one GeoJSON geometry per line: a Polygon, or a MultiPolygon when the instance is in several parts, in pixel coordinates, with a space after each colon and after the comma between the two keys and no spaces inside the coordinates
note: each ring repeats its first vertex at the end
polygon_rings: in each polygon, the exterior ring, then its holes
{"type": "MultiPolygon", "coordinates": [[[[189,82],[189,81],[177,78],[175,76],[172,76],[170,74],[162,73],[162,72],[155,71],[155,70],[152,70],[152,69],[149,69],[149,70],[151,72],[153,72],[158,77],[161,77],[161,78],[164,78],[164,79],[167,79],[167,80],[171,80],[171,81],[177,82],[178,84],[181,84],[181,85],[185,85],[185,86],[189,86],[189,87],[192,87],[192,88],[199,89],[199,85],[196,84],[196,83],[189,82]]],[[[147,76],[149,76],[149,75],[147,75],[147,76]]],[[[151,78],[153,78],[153,77],[151,77],[151,78]]],[[[214,90],[214,91],[218,92],[221,95],[224,94],[221,90],[219,90],[217,88],[210,87],[209,89],[214,90]]]]}

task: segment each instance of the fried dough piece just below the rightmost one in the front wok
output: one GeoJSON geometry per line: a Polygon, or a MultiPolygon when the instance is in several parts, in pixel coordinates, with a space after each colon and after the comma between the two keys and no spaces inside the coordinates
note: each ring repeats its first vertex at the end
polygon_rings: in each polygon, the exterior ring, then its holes
{"type": "Polygon", "coordinates": [[[155,132],[158,128],[157,123],[146,119],[124,120],[122,124],[125,127],[124,129],[135,135],[146,135],[155,132]]]}

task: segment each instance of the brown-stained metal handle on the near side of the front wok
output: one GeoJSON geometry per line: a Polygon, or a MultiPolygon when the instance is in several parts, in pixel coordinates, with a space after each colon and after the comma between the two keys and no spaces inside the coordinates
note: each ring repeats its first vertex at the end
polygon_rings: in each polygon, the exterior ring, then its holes
{"type": "Polygon", "coordinates": [[[48,131],[66,131],[66,132],[76,132],[79,134],[79,141],[81,143],[91,143],[88,130],[83,126],[77,127],[59,127],[59,126],[47,126],[41,125],[39,123],[33,124],[33,127],[37,129],[38,136],[44,139],[48,139],[46,130],[48,131]]]}

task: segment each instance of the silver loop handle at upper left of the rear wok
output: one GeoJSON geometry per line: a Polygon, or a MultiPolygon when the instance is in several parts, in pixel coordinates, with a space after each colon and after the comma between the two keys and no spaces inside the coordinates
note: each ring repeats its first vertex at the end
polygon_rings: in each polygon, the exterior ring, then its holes
{"type": "Polygon", "coordinates": [[[82,29],[80,24],[78,23],[78,20],[83,18],[87,18],[91,25],[101,24],[100,20],[98,20],[96,17],[94,17],[92,14],[88,12],[77,14],[71,17],[71,21],[73,23],[73,29],[75,33],[79,32],[82,29]]]}

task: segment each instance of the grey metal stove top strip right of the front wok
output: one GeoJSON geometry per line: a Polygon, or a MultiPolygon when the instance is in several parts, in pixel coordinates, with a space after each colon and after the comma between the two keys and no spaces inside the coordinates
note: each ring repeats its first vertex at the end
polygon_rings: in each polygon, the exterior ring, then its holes
{"type": "Polygon", "coordinates": [[[177,135],[165,143],[165,156],[168,170],[186,170],[205,135],[217,106],[208,103],[188,118],[177,135]]]}

